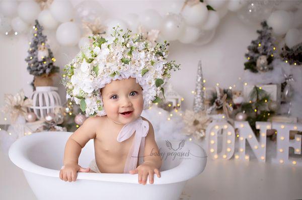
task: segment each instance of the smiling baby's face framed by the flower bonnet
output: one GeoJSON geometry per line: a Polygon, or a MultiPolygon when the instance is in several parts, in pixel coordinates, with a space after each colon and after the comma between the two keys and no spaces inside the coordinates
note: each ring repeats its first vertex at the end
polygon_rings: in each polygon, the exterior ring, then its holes
{"type": "Polygon", "coordinates": [[[129,123],[143,109],[142,88],[135,78],[115,80],[101,90],[107,116],[118,123],[129,123]]]}

